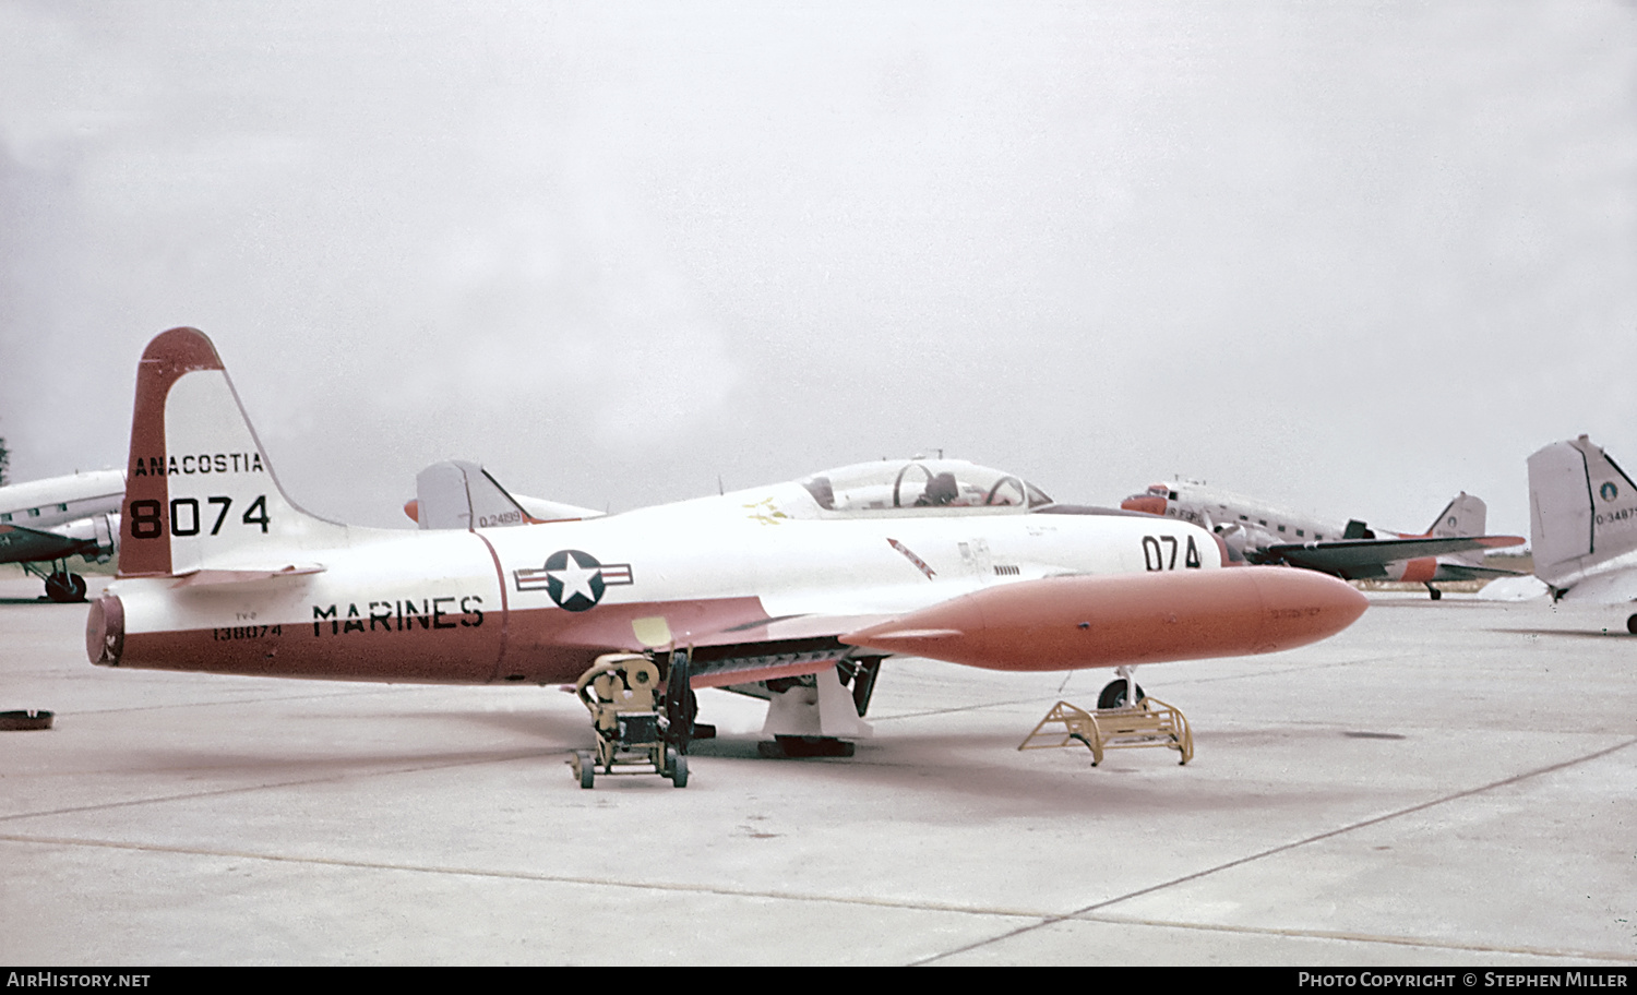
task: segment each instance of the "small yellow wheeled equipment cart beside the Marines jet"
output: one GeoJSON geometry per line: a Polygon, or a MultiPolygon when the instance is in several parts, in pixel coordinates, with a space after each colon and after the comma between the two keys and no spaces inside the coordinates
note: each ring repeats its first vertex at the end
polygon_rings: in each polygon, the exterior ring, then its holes
{"type": "Polygon", "coordinates": [[[576,750],[568,761],[579,787],[604,774],[658,774],[674,787],[688,786],[688,741],[697,704],[688,686],[688,653],[671,653],[665,691],[660,666],[640,653],[604,653],[579,681],[575,694],[591,712],[598,746],[576,750]],[[663,699],[663,712],[660,710],[663,699]]]}

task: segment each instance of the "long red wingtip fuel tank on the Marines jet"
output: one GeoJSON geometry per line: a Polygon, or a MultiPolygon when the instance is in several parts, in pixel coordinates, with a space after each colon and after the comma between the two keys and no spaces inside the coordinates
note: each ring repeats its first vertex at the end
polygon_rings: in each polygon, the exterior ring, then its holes
{"type": "Polygon", "coordinates": [[[1066,576],[989,588],[841,637],[999,671],[1246,656],[1336,635],[1367,601],[1283,566],[1066,576]]]}

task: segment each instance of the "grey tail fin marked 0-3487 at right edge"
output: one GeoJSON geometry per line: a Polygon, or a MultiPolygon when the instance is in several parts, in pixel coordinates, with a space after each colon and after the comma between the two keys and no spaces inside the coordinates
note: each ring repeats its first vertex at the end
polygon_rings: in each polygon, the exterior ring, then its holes
{"type": "Polygon", "coordinates": [[[1536,452],[1529,457],[1529,545],[1536,576],[1554,588],[1637,550],[1637,484],[1585,435],[1536,452]]]}

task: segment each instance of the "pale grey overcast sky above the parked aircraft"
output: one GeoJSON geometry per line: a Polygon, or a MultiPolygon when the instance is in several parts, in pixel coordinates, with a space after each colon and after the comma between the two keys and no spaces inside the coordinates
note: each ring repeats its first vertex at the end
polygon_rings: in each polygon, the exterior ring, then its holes
{"type": "Polygon", "coordinates": [[[1637,5],[0,0],[0,435],[210,334],[285,489],[943,448],[1388,529],[1637,465],[1637,5]]]}

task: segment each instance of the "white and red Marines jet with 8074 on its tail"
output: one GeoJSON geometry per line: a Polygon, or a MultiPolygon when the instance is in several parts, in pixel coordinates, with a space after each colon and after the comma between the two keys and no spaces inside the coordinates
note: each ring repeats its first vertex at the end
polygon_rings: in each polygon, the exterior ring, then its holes
{"type": "Polygon", "coordinates": [[[1365,609],[1328,576],[1223,565],[1187,522],[1054,504],[956,460],[522,527],[340,525],[283,494],[210,339],[172,329],[138,368],[120,574],[87,648],[103,666],[470,684],[560,684],[634,651],[684,674],[671,702],[691,674],[769,699],[776,736],[853,738],[894,653],[1131,666],[1288,650],[1365,609]]]}

